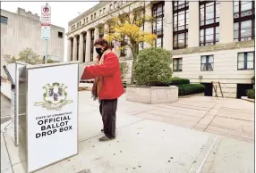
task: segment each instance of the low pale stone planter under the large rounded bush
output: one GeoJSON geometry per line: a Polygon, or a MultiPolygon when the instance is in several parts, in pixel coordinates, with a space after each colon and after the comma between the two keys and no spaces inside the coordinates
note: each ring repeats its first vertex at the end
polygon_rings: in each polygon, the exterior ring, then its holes
{"type": "Polygon", "coordinates": [[[178,100],[177,86],[127,86],[126,100],[135,103],[175,103],[178,100]]]}

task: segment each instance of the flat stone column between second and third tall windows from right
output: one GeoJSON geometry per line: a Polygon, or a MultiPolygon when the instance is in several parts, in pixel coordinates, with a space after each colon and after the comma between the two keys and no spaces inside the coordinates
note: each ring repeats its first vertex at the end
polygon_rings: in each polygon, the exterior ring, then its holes
{"type": "Polygon", "coordinates": [[[189,8],[190,9],[189,9],[188,47],[198,47],[200,45],[199,2],[190,1],[189,8]]]}

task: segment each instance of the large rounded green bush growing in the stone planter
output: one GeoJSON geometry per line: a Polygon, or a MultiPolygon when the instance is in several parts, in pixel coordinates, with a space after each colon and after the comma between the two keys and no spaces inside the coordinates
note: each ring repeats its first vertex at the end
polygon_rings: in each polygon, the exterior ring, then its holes
{"type": "Polygon", "coordinates": [[[140,51],[134,66],[134,77],[139,86],[167,86],[172,77],[171,53],[158,47],[140,51]]]}

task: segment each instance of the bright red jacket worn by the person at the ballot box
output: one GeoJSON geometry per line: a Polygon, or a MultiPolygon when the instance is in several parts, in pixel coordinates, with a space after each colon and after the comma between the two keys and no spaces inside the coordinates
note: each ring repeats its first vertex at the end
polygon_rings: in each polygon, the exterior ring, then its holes
{"type": "Polygon", "coordinates": [[[124,94],[118,57],[115,53],[105,54],[101,65],[87,66],[81,79],[103,77],[98,93],[98,100],[116,99],[124,94]]]}

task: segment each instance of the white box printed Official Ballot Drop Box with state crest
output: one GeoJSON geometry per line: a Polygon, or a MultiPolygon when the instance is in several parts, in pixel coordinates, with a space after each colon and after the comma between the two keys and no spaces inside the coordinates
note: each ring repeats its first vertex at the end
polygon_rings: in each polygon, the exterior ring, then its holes
{"type": "Polygon", "coordinates": [[[26,65],[20,72],[26,110],[18,147],[30,173],[78,154],[79,63],[26,65]]]}

